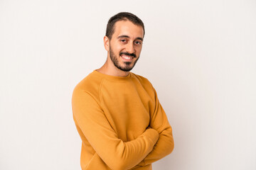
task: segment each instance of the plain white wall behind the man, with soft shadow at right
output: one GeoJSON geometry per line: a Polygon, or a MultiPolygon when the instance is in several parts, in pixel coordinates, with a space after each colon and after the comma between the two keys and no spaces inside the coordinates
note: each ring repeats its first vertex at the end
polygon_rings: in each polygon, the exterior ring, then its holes
{"type": "Polygon", "coordinates": [[[0,169],[80,169],[71,110],[104,64],[108,19],[142,18],[147,77],[175,148],[154,169],[256,169],[256,1],[0,0],[0,169]]]}

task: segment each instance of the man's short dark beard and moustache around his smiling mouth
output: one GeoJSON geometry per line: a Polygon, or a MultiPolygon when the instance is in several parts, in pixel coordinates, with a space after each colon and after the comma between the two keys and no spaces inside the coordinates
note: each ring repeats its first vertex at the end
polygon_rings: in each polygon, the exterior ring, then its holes
{"type": "Polygon", "coordinates": [[[135,66],[136,62],[139,60],[139,56],[137,57],[135,54],[130,54],[128,52],[120,52],[119,56],[121,56],[122,54],[123,55],[129,55],[129,56],[135,57],[137,59],[134,61],[134,63],[132,63],[132,62],[124,62],[124,66],[122,67],[121,64],[117,60],[117,56],[114,55],[114,52],[112,51],[111,46],[110,46],[110,59],[112,60],[114,66],[117,67],[117,69],[120,69],[120,70],[122,70],[124,72],[129,72],[129,71],[131,71],[133,69],[133,67],[135,66]]]}

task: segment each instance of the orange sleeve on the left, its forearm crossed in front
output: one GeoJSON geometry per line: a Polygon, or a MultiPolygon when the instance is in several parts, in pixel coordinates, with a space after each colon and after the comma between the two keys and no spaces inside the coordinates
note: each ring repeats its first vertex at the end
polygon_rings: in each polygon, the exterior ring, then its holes
{"type": "MultiPolygon", "coordinates": [[[[100,103],[82,89],[74,90],[72,106],[75,123],[110,169],[131,169],[139,164],[153,149],[159,138],[159,133],[163,136],[161,141],[169,140],[168,137],[164,137],[169,130],[163,131],[157,123],[152,123],[151,126],[155,130],[146,129],[136,140],[123,142],[112,129],[100,103]]],[[[161,119],[161,115],[156,117],[156,121],[161,121],[159,119],[161,119]]],[[[161,141],[159,145],[162,145],[161,141]]],[[[157,148],[160,149],[160,147],[157,148]]],[[[159,152],[159,149],[156,152],[159,152]]]]}

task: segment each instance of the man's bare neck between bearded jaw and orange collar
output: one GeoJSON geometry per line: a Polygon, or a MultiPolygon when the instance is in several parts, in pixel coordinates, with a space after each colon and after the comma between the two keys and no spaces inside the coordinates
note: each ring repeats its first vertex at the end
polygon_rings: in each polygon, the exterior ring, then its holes
{"type": "Polygon", "coordinates": [[[124,72],[121,69],[115,67],[109,57],[107,57],[107,61],[105,62],[105,64],[100,67],[100,69],[97,69],[97,72],[116,77],[127,77],[129,74],[129,72],[124,72]]]}

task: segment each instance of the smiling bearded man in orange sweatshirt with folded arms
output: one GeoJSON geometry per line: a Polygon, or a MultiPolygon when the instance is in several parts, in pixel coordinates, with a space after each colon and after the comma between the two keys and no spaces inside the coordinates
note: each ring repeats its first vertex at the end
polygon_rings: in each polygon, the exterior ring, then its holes
{"type": "Polygon", "coordinates": [[[82,170],[149,170],[174,149],[154,87],[129,72],[139,59],[144,33],[144,23],[134,14],[112,16],[104,37],[107,61],[74,89],[82,170]]]}

